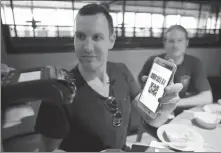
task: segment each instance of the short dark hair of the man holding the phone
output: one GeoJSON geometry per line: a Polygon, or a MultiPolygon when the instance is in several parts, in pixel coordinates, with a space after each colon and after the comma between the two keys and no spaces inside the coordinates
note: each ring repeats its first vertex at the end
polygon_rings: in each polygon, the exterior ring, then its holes
{"type": "Polygon", "coordinates": [[[102,13],[108,22],[108,27],[109,27],[109,31],[110,34],[113,34],[114,32],[114,26],[113,26],[113,19],[111,17],[111,15],[109,14],[109,11],[106,9],[105,6],[103,5],[99,5],[99,4],[87,4],[85,6],[83,6],[79,11],[77,15],[96,15],[98,13],[102,13]]]}

